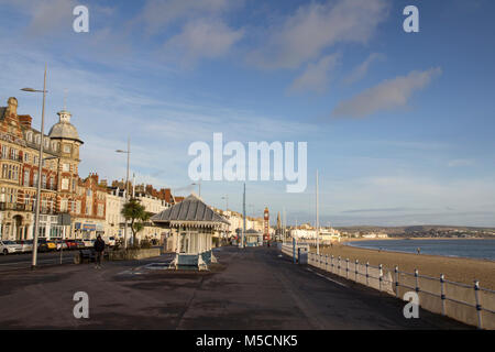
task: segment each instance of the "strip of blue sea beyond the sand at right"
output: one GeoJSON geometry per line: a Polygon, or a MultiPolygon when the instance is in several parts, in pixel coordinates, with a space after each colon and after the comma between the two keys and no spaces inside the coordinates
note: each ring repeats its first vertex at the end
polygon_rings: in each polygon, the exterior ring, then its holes
{"type": "Polygon", "coordinates": [[[495,239],[479,240],[372,240],[348,243],[351,246],[382,250],[389,252],[470,257],[495,261],[495,239]]]}

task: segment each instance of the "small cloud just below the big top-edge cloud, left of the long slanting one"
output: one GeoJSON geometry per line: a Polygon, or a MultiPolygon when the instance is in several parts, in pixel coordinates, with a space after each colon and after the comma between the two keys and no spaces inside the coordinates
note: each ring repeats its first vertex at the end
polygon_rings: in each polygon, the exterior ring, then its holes
{"type": "Polygon", "coordinates": [[[316,64],[308,64],[305,72],[293,81],[289,90],[324,92],[329,84],[329,74],[337,66],[339,58],[339,54],[332,54],[323,56],[316,64]]]}

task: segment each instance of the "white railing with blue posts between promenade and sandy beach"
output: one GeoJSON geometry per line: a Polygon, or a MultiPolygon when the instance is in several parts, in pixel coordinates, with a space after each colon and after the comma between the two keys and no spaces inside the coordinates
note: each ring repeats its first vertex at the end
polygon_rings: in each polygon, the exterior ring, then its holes
{"type": "MultiPolygon", "coordinates": [[[[292,249],[292,246],[290,246],[292,249]]],[[[288,252],[288,251],[286,251],[288,252]]],[[[284,252],[284,253],[286,253],[284,252]]],[[[292,256],[293,252],[286,253],[292,256]]],[[[387,270],[382,264],[350,261],[341,256],[308,253],[308,265],[345,277],[346,279],[375,288],[381,293],[404,297],[407,292],[418,294],[420,306],[480,329],[495,329],[495,292],[473,285],[447,280],[444,275],[431,277],[400,272],[398,266],[387,270]]]]}

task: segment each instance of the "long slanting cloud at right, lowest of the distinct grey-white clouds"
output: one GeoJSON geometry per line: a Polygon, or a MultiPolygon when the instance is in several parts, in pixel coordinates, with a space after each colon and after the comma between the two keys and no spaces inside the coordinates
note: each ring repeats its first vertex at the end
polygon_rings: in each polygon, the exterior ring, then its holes
{"type": "Polygon", "coordinates": [[[425,72],[411,72],[407,76],[384,80],[377,86],[340,102],[333,110],[332,116],[364,118],[380,111],[404,107],[416,90],[428,86],[440,74],[440,68],[431,68],[425,72]]]}

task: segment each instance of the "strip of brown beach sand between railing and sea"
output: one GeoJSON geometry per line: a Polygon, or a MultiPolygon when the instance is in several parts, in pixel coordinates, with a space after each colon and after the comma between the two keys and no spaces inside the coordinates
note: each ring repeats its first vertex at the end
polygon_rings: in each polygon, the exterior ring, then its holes
{"type": "MultiPolygon", "coordinates": [[[[316,252],[312,248],[311,252],[316,252]]],[[[360,263],[370,262],[370,265],[382,264],[384,268],[394,271],[398,265],[400,272],[414,273],[415,268],[420,275],[440,277],[451,282],[474,285],[474,280],[480,280],[483,288],[495,289],[495,262],[448,257],[427,254],[408,254],[394,252],[378,252],[378,250],[367,250],[352,248],[342,243],[333,243],[333,246],[320,246],[320,253],[341,256],[342,260],[349,258],[360,263]]]]}

